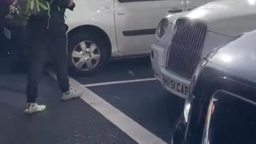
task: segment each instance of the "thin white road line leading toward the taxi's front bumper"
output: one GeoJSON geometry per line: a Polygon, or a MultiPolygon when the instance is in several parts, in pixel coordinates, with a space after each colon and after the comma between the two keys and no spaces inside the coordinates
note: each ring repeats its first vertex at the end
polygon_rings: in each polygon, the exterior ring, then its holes
{"type": "Polygon", "coordinates": [[[101,83],[93,83],[93,84],[86,84],[86,87],[92,86],[105,86],[105,85],[114,85],[114,84],[122,84],[122,83],[132,83],[132,82],[147,82],[147,81],[156,81],[157,78],[143,78],[143,79],[134,79],[134,80],[127,80],[127,81],[116,81],[116,82],[101,82],[101,83]]]}

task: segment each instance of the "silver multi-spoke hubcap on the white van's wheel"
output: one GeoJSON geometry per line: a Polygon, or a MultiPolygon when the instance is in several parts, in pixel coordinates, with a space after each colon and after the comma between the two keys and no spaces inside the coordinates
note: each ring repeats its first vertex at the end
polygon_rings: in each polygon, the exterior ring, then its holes
{"type": "Polygon", "coordinates": [[[78,43],[72,51],[72,62],[78,70],[93,70],[100,61],[100,50],[94,42],[78,43]]]}

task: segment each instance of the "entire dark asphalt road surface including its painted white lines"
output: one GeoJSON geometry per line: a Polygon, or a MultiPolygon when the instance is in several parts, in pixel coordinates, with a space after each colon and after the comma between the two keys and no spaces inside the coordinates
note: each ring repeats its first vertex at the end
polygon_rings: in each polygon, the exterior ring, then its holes
{"type": "Polygon", "coordinates": [[[62,102],[56,80],[42,74],[42,114],[26,116],[26,66],[0,56],[0,143],[170,143],[184,100],[154,79],[149,58],[110,62],[98,74],[74,77],[82,98],[62,102]],[[15,69],[11,69],[15,67],[15,69]]]}

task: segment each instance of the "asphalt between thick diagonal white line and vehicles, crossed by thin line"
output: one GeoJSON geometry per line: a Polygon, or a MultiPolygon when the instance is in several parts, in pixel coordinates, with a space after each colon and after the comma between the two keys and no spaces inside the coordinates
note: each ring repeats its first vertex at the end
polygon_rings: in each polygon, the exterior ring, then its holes
{"type": "Polygon", "coordinates": [[[170,143],[183,102],[154,79],[150,58],[110,62],[90,77],[77,77],[94,94],[109,102],[164,142],[170,143]]]}

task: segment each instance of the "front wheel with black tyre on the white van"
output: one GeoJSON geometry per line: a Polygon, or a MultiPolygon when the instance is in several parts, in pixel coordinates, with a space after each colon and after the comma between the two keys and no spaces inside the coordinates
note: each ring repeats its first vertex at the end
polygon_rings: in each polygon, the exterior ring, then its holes
{"type": "Polygon", "coordinates": [[[68,58],[71,74],[94,74],[108,61],[108,45],[97,35],[78,32],[70,36],[68,58]]]}

